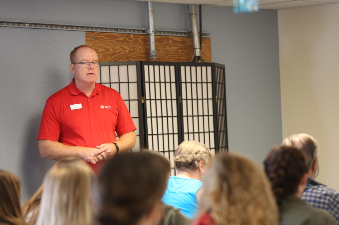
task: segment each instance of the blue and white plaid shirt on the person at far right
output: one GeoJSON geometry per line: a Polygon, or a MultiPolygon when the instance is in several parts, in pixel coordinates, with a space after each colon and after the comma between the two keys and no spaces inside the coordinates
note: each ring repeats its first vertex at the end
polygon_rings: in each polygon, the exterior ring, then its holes
{"type": "Polygon", "coordinates": [[[326,210],[339,224],[339,193],[308,177],[301,199],[309,205],[326,210]]]}

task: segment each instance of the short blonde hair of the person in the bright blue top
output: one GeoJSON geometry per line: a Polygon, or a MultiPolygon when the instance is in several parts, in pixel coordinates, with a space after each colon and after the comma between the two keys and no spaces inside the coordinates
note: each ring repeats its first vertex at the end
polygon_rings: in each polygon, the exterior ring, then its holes
{"type": "Polygon", "coordinates": [[[196,141],[183,141],[174,154],[174,168],[179,171],[194,171],[199,168],[199,161],[209,164],[213,155],[204,144],[196,141]]]}

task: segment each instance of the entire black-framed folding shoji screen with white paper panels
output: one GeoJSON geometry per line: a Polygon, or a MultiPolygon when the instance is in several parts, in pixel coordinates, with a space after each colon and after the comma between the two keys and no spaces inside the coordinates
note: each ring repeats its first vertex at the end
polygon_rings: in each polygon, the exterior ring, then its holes
{"type": "Polygon", "coordinates": [[[102,62],[98,82],[121,93],[139,124],[132,151],[149,148],[163,153],[171,161],[171,175],[174,151],[184,140],[202,142],[212,152],[227,151],[224,65],[102,62]]]}

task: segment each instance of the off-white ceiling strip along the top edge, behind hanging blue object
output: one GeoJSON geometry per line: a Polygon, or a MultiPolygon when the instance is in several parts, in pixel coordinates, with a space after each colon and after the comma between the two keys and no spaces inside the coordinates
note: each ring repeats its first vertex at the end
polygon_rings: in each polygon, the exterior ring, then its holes
{"type": "MultiPolygon", "coordinates": [[[[144,1],[144,0],[136,0],[144,1]]],[[[233,0],[150,0],[152,2],[167,2],[181,4],[211,5],[221,7],[232,7],[233,0]]],[[[260,9],[286,9],[299,8],[314,5],[325,5],[339,3],[339,0],[259,0],[260,9]]]]}

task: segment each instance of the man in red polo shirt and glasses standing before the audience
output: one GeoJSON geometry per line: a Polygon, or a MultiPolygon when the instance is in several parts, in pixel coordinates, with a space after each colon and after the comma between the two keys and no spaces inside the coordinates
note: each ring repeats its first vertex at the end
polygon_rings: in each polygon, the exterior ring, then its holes
{"type": "Polygon", "coordinates": [[[98,172],[102,160],[135,146],[136,127],[120,94],[96,83],[96,50],[80,45],[70,56],[74,78],[46,101],[38,135],[39,151],[42,157],[54,160],[83,158],[98,172]]]}

